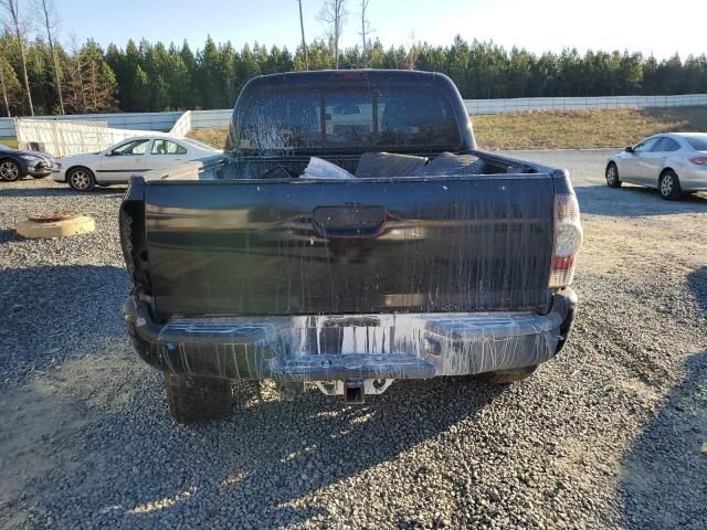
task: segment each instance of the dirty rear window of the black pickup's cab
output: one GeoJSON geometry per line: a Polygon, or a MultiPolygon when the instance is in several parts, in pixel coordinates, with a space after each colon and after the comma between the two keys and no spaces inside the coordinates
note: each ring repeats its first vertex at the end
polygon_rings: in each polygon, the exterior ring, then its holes
{"type": "Polygon", "coordinates": [[[287,153],[300,149],[455,149],[460,127],[432,86],[257,91],[239,103],[232,149],[287,153]]]}

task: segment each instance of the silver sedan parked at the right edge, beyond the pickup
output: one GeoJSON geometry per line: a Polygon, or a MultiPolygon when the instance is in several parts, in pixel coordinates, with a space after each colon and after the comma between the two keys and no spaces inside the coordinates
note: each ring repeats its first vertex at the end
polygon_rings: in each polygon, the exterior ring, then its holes
{"type": "Polygon", "coordinates": [[[658,190],[663,199],[707,191],[707,134],[666,132],[609,157],[606,186],[622,182],[658,190]]]}

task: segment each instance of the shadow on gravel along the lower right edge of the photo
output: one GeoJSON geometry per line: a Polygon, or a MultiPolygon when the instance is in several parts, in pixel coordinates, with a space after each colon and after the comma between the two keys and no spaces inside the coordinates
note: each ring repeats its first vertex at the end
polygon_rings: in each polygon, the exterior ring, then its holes
{"type": "MultiPolygon", "coordinates": [[[[688,283],[707,317],[707,267],[692,273],[688,283]]],[[[707,350],[688,358],[684,369],[684,380],[623,460],[620,495],[630,528],[705,528],[707,350]]]]}

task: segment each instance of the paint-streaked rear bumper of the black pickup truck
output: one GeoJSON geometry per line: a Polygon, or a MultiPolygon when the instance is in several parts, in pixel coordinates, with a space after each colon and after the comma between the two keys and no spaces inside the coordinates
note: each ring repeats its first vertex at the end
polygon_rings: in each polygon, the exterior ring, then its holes
{"type": "Polygon", "coordinates": [[[139,356],[168,372],[281,382],[428,379],[525,368],[560,351],[577,295],[553,296],[547,315],[445,312],[151,320],[123,306],[139,356]]]}

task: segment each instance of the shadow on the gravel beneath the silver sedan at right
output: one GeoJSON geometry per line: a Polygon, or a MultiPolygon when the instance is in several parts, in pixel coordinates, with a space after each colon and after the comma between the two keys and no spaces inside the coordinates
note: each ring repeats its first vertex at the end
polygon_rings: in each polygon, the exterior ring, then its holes
{"type": "Polygon", "coordinates": [[[661,199],[648,188],[623,186],[580,186],[574,188],[582,213],[625,218],[630,215],[673,215],[707,212],[707,194],[684,195],[679,201],[661,199]]]}

